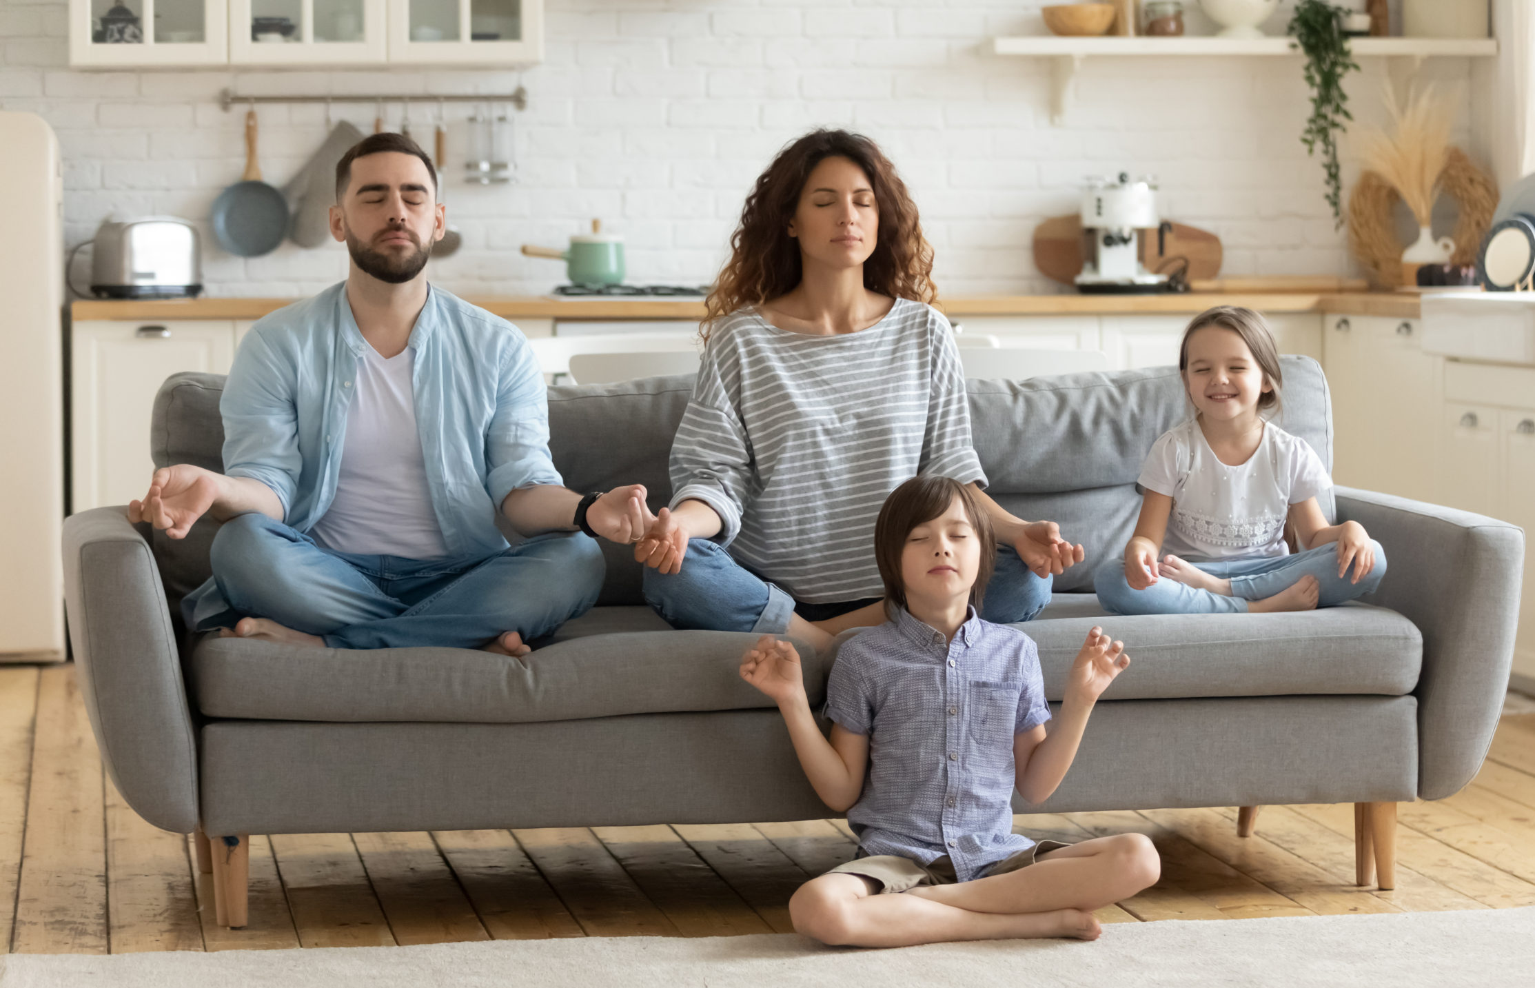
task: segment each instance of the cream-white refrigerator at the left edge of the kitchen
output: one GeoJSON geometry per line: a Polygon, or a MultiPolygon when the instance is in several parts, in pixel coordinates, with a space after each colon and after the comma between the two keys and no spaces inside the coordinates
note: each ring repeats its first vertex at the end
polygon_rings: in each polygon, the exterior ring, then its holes
{"type": "Polygon", "coordinates": [[[64,658],[63,164],[0,112],[0,662],[64,658]]]}

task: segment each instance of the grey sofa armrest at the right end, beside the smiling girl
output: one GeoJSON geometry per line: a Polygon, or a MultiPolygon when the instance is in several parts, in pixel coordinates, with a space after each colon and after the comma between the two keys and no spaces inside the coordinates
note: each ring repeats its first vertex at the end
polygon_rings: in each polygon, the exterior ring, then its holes
{"type": "Polygon", "coordinates": [[[1514,662],[1524,532],[1484,515],[1339,487],[1339,522],[1357,521],[1386,550],[1386,578],[1365,598],[1423,633],[1418,796],[1471,782],[1492,745],[1514,662]]]}

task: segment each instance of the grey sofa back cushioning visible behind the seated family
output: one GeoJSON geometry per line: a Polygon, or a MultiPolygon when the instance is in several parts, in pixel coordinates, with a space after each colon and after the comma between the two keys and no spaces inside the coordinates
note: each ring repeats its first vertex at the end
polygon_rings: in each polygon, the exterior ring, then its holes
{"type": "MultiPolygon", "coordinates": [[[[1282,358],[1283,410],[1276,419],[1306,439],[1332,467],[1328,384],[1309,356],[1282,358]]],[[[177,373],[155,400],[150,432],[157,467],[192,463],[221,470],[218,398],[224,378],[177,373]]],[[[1084,565],[1056,578],[1062,592],[1090,592],[1093,569],[1117,556],[1141,510],[1136,476],[1151,443],[1191,412],[1176,367],[1074,373],[1028,381],[969,381],[975,449],[990,493],[1027,519],[1061,524],[1082,542],[1084,565]]],[[[671,499],[666,461],[692,376],[622,384],[550,387],[550,450],[577,492],[645,484],[652,510],[671,499]]],[[[1332,518],[1331,493],[1323,512],[1332,518]]],[[[181,541],[155,533],[166,592],[175,605],[207,578],[216,522],[204,519],[181,541]]],[[[603,542],[608,581],[599,604],[642,604],[640,565],[623,545],[603,542]]]]}

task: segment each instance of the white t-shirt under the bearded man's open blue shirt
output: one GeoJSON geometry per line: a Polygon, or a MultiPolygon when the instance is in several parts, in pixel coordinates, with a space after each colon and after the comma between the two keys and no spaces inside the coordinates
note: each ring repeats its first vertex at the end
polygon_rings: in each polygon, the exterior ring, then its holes
{"type": "Polygon", "coordinates": [[[325,549],[407,559],[448,555],[416,432],[414,363],[410,347],[388,360],[365,347],[358,361],[336,498],[309,530],[325,549]]]}

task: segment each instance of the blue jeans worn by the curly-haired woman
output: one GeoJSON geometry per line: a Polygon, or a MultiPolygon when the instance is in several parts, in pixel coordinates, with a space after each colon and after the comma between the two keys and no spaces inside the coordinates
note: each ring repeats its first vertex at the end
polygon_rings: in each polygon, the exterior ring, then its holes
{"type": "MultiPolygon", "coordinates": [[[[1010,545],[996,547],[981,616],[998,624],[1032,621],[1050,602],[1053,578],[1035,576],[1010,545]]],[[[682,630],[783,635],[794,598],[748,570],[709,539],[689,539],[682,570],[666,576],[645,567],[645,602],[682,630]]]]}

